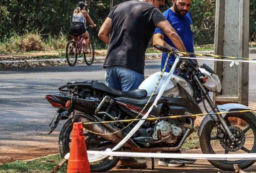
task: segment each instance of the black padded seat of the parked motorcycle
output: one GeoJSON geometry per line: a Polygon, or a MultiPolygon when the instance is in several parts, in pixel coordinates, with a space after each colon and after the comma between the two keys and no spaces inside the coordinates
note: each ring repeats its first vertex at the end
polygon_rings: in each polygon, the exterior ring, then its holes
{"type": "Polygon", "coordinates": [[[113,95],[116,95],[116,96],[130,97],[130,98],[134,98],[134,99],[140,99],[147,95],[147,91],[144,89],[134,89],[131,91],[118,91],[115,89],[111,89],[110,87],[106,86],[102,82],[94,82],[92,84],[92,88],[99,89],[99,90],[111,93],[113,95]]]}

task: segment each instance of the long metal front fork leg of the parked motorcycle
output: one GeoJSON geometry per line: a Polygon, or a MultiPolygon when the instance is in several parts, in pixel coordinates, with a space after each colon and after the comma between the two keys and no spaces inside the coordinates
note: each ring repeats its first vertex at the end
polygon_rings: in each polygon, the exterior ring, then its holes
{"type": "MultiPolygon", "coordinates": [[[[194,75],[194,79],[197,81],[199,87],[202,89],[203,95],[205,96],[207,102],[209,103],[211,109],[213,112],[215,113],[219,113],[219,109],[215,106],[215,104],[212,102],[210,96],[208,95],[207,91],[204,89],[203,85],[201,84],[201,82],[199,81],[198,77],[196,75],[194,75]]],[[[221,114],[215,114],[219,120],[219,122],[221,123],[222,127],[224,128],[224,130],[226,131],[226,133],[228,134],[229,138],[231,139],[231,141],[235,141],[235,137],[232,134],[232,132],[230,131],[230,129],[228,128],[224,118],[222,117],[221,114]]]]}

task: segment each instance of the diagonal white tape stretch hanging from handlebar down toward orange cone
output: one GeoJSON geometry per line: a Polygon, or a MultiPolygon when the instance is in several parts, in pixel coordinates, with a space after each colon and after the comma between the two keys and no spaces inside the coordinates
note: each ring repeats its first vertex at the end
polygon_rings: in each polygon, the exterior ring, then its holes
{"type": "MultiPolygon", "coordinates": [[[[154,105],[156,105],[156,103],[158,102],[158,100],[161,98],[165,88],[167,87],[174,71],[175,71],[175,68],[176,68],[176,65],[178,64],[179,62],[179,59],[180,57],[178,56],[174,63],[173,63],[173,66],[168,74],[168,76],[165,78],[164,82],[163,82],[163,85],[161,86],[160,90],[159,90],[159,93],[156,97],[156,100],[154,101],[153,105],[149,108],[149,110],[147,111],[147,113],[142,117],[142,119],[145,119],[148,117],[149,113],[151,112],[151,110],[153,109],[154,105]]],[[[122,147],[128,139],[131,138],[131,136],[139,129],[139,127],[144,123],[145,120],[140,120],[135,126],[134,128],[111,150],[111,151],[115,151],[117,149],[119,149],[120,147],[122,147]]],[[[101,160],[101,159],[104,159],[106,156],[103,156],[102,157],[99,157],[98,155],[88,155],[88,160],[89,162],[95,162],[97,160],[101,160]]]]}

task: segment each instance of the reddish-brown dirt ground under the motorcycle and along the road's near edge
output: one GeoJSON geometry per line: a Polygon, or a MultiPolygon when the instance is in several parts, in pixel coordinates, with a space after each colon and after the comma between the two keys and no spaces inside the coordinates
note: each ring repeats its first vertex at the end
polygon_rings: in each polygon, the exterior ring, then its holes
{"type": "MultiPolygon", "coordinates": [[[[199,126],[201,121],[202,121],[203,117],[198,117],[195,121],[195,126],[199,126]]],[[[57,133],[57,132],[53,132],[53,133],[57,133]]],[[[30,147],[29,143],[26,142],[20,142],[20,144],[17,144],[17,141],[13,141],[15,143],[15,145],[18,146],[18,148],[0,148],[1,150],[1,155],[0,155],[0,163],[6,163],[6,162],[13,162],[15,160],[27,160],[27,159],[32,159],[32,158],[36,158],[36,157],[41,157],[41,156],[45,156],[45,155],[50,155],[50,154],[54,154],[54,153],[58,153],[58,146],[56,145],[57,141],[55,141],[56,139],[54,139],[51,136],[48,136],[48,140],[50,139],[50,143],[49,142],[44,142],[44,141],[40,141],[40,137],[37,138],[37,143],[38,143],[38,147],[30,147]]],[[[31,138],[31,136],[30,136],[31,138]]],[[[42,137],[43,138],[43,137],[42,137]]],[[[12,144],[10,144],[12,145],[12,144]]],[[[247,145],[253,145],[253,141],[249,141],[249,143],[247,145]]],[[[33,144],[34,146],[34,144],[33,144]]],[[[218,149],[222,149],[221,146],[218,146],[218,149]]],[[[197,154],[201,154],[202,151],[201,149],[187,149],[182,151],[182,153],[197,153],[197,154]]],[[[137,173],[137,172],[175,172],[175,173],[187,173],[187,172],[191,172],[191,173],[196,173],[196,172],[205,172],[205,173],[225,173],[227,171],[222,171],[218,168],[215,168],[213,165],[211,165],[207,160],[197,160],[195,163],[193,164],[189,164],[189,165],[185,165],[184,167],[181,168],[170,168],[170,167],[163,167],[163,166],[159,166],[158,165],[158,159],[155,159],[155,169],[152,170],[151,169],[151,160],[140,160],[142,162],[146,162],[148,167],[146,169],[143,170],[132,170],[132,169],[116,169],[113,168],[112,170],[110,170],[109,172],[113,172],[113,173],[125,173],[125,172],[129,172],[129,173],[137,173]]],[[[256,164],[254,164],[253,166],[251,166],[250,168],[246,169],[246,171],[256,171],[256,164]]]]}

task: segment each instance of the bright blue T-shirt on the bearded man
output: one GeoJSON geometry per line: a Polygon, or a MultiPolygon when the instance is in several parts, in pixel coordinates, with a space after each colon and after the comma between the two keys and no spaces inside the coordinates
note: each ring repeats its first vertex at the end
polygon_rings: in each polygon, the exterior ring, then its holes
{"type": "MultiPolygon", "coordinates": [[[[190,12],[188,11],[187,14],[184,16],[180,16],[176,14],[171,8],[167,9],[163,12],[163,16],[167,19],[167,21],[172,25],[172,27],[175,29],[175,31],[180,36],[182,42],[184,43],[184,46],[187,50],[187,52],[194,53],[194,40],[193,40],[193,23],[191,20],[190,12]]],[[[168,43],[170,46],[175,47],[173,42],[162,32],[160,28],[156,28],[154,34],[160,33],[164,36],[164,41],[168,43]]],[[[176,47],[175,47],[176,48],[176,47]]],[[[165,64],[166,53],[162,54],[162,61],[161,61],[161,70],[163,69],[163,66],[165,64]]],[[[194,57],[194,55],[190,55],[190,57],[194,57]]],[[[172,54],[168,60],[168,64],[166,66],[165,71],[169,72],[171,69],[169,68],[170,64],[173,64],[175,61],[175,56],[172,54]]],[[[177,70],[174,72],[174,74],[177,74],[177,70]]]]}

